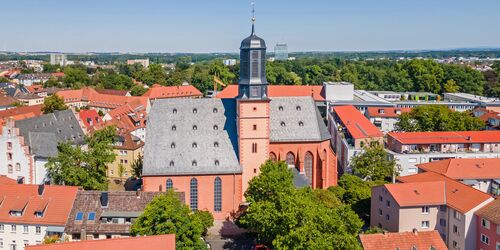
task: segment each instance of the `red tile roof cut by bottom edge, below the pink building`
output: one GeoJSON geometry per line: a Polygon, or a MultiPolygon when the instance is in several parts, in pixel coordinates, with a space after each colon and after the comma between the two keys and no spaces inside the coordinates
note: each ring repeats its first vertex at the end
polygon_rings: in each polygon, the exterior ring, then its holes
{"type": "Polygon", "coordinates": [[[365,250],[448,249],[438,231],[360,234],[359,238],[365,250]]]}

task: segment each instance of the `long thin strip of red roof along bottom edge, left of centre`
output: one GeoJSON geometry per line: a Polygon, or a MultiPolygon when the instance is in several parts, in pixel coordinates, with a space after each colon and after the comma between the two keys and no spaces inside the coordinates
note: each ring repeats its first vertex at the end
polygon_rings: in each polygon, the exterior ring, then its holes
{"type": "Polygon", "coordinates": [[[84,240],[46,245],[27,246],[26,250],[175,250],[175,234],[115,238],[106,240],[84,240]]]}

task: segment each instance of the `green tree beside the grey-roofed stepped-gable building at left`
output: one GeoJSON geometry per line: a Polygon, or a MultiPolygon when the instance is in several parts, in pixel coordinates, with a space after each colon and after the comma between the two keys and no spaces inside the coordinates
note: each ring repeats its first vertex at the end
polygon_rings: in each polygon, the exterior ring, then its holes
{"type": "Polygon", "coordinates": [[[52,183],[82,186],[87,190],[106,190],[107,164],[115,160],[113,145],[116,128],[108,126],[86,137],[87,148],[59,143],[58,154],[49,158],[47,173],[52,183]]]}

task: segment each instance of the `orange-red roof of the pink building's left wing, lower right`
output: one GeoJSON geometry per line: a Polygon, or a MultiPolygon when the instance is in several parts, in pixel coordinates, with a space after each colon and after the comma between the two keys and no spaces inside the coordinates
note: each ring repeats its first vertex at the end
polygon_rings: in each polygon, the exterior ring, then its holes
{"type": "Polygon", "coordinates": [[[385,184],[384,187],[401,207],[444,205],[444,181],[385,184]]]}

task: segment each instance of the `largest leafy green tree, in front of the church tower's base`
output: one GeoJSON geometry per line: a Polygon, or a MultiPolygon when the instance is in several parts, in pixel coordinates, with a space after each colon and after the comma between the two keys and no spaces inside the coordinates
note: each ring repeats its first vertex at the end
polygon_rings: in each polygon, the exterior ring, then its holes
{"type": "Polygon", "coordinates": [[[267,161],[245,197],[250,206],[237,223],[276,249],[360,249],[363,222],[330,193],[296,189],[284,162],[267,161]]]}

